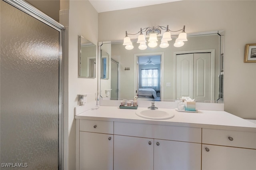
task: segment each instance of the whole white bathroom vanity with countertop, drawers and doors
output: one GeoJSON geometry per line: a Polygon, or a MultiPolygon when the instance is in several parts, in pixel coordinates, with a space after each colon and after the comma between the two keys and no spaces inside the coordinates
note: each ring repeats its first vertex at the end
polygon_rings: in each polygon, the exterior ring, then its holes
{"type": "Polygon", "coordinates": [[[77,170],[254,170],[256,124],[225,111],[151,120],[100,106],[76,115],[77,170]]]}

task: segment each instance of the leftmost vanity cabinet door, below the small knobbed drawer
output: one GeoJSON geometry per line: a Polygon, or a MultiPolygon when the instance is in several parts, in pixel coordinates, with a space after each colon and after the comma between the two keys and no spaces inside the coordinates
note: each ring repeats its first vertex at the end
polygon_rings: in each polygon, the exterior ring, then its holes
{"type": "Polygon", "coordinates": [[[80,132],[80,170],[113,170],[113,135],[80,132]]]}

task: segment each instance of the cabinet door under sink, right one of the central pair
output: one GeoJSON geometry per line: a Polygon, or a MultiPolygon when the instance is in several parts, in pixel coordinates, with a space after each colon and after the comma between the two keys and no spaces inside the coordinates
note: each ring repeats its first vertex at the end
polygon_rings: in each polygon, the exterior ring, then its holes
{"type": "Polygon", "coordinates": [[[201,144],[154,141],[154,170],[200,170],[201,144]]]}

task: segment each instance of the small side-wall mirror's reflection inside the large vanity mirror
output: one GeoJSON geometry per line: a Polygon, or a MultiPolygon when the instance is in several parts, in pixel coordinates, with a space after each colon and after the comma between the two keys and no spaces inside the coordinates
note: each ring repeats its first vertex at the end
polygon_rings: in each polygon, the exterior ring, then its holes
{"type": "Polygon", "coordinates": [[[100,62],[101,62],[101,68],[100,68],[100,78],[101,79],[108,79],[108,69],[109,69],[109,58],[108,53],[104,51],[103,49],[100,50],[100,62]]]}

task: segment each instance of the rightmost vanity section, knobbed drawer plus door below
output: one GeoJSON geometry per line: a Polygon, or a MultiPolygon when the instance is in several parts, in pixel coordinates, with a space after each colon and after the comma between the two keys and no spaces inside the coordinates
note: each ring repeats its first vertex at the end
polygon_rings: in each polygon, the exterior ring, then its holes
{"type": "Polygon", "coordinates": [[[256,132],[202,129],[202,170],[255,170],[256,132]]]}

